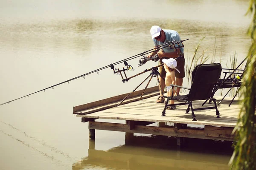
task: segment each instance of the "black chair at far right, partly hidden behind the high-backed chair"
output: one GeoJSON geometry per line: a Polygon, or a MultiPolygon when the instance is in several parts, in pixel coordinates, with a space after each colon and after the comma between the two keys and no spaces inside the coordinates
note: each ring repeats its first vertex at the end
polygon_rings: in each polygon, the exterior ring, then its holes
{"type": "MultiPolygon", "coordinates": [[[[246,58],[245,58],[246,59],[246,58]]],[[[238,69],[241,64],[245,61],[245,59],[236,67],[236,69],[231,69],[231,68],[222,68],[224,77],[223,79],[219,79],[218,82],[216,83],[216,86],[214,87],[212,91],[211,98],[214,96],[216,91],[218,89],[223,89],[223,88],[230,88],[229,91],[224,95],[224,97],[218,102],[218,105],[222,102],[222,100],[227,96],[227,94],[231,91],[232,88],[240,88],[241,87],[241,79],[243,77],[244,71],[249,63],[249,59],[247,60],[244,69],[238,69]],[[230,72],[232,71],[232,72],[230,72]],[[236,78],[239,76],[239,79],[236,78]]],[[[233,96],[233,99],[231,100],[230,104],[233,102],[235,99],[236,95],[238,94],[238,90],[236,91],[236,94],[233,96]]],[[[208,100],[208,99],[207,99],[208,100]]],[[[203,103],[203,105],[207,102],[207,100],[203,103]]],[[[209,103],[211,103],[211,99],[209,99],[209,103]]]]}

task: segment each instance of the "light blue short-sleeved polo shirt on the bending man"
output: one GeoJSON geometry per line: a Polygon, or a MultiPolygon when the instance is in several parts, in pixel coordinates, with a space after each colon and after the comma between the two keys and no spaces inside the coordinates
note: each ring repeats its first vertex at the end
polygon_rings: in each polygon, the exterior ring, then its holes
{"type": "MultiPolygon", "coordinates": [[[[163,44],[166,44],[168,41],[172,42],[172,41],[180,41],[180,35],[177,33],[177,31],[175,30],[171,30],[171,29],[163,29],[164,33],[166,34],[166,39],[164,42],[160,42],[160,41],[157,41],[155,39],[153,39],[153,42],[154,42],[154,46],[157,47],[159,45],[163,45],[163,44]]],[[[180,43],[180,46],[182,44],[180,43]]],[[[178,45],[175,44],[175,46],[177,47],[178,45]]],[[[170,49],[169,47],[166,47],[166,48],[163,48],[163,51],[165,53],[170,53],[170,52],[173,52],[174,49],[170,49]]],[[[183,53],[184,51],[184,48],[180,48],[180,51],[181,53],[183,53]]]]}

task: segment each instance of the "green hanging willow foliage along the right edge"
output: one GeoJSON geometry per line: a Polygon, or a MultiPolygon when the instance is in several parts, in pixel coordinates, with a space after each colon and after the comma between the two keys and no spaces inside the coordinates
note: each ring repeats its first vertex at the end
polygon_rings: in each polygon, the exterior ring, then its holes
{"type": "Polygon", "coordinates": [[[241,110],[238,124],[235,128],[237,143],[230,164],[233,163],[236,170],[256,170],[256,0],[250,0],[247,14],[253,14],[253,20],[248,29],[252,39],[247,58],[246,74],[243,77],[241,88],[241,110]]]}

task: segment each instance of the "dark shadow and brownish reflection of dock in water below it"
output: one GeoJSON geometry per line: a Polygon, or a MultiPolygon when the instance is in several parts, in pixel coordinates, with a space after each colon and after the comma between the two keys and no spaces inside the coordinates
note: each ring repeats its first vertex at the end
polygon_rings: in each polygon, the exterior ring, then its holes
{"type": "Polygon", "coordinates": [[[232,143],[203,139],[186,139],[177,150],[177,139],[168,136],[125,136],[125,144],[110,150],[95,150],[89,141],[88,156],[76,161],[72,169],[189,169],[228,170],[232,143]]]}

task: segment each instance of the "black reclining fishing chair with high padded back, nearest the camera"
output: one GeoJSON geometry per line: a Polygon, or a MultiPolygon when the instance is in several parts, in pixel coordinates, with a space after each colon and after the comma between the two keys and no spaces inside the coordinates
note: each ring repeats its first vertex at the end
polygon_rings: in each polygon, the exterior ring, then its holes
{"type": "Polygon", "coordinates": [[[214,109],[216,110],[217,118],[219,118],[219,111],[216,105],[216,99],[211,98],[212,90],[215,87],[218,79],[221,75],[221,64],[213,63],[213,64],[201,64],[197,65],[192,71],[192,83],[191,88],[186,88],[182,86],[172,85],[172,89],[174,87],[185,88],[189,90],[189,94],[183,96],[170,96],[167,97],[166,105],[163,109],[162,116],[166,114],[167,106],[175,106],[175,105],[189,105],[186,109],[186,113],[189,113],[191,108],[193,121],[196,121],[194,111],[205,110],[205,109],[214,109]],[[205,108],[193,108],[192,101],[196,100],[206,100],[211,99],[215,106],[214,107],[205,107],[205,108]],[[168,104],[169,100],[180,101],[183,103],[175,103],[168,104]]]}

